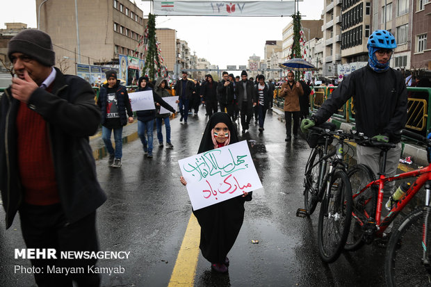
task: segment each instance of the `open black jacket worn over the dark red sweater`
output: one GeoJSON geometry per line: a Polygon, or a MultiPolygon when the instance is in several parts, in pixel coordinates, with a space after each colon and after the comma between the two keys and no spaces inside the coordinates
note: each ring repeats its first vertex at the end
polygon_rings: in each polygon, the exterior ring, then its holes
{"type": "MultiPolygon", "coordinates": [[[[95,93],[85,80],[56,69],[52,92],[36,89],[27,106],[47,122],[60,204],[72,223],[94,212],[106,200],[96,176],[95,159],[88,142],[100,123],[95,93]]],[[[6,211],[6,228],[24,198],[19,179],[16,117],[19,101],[10,88],[0,101],[0,189],[6,211]]]]}

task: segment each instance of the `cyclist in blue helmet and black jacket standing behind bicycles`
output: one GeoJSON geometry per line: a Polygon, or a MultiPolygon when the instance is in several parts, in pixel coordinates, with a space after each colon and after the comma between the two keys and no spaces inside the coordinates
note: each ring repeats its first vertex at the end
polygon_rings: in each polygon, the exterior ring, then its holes
{"type": "MultiPolygon", "coordinates": [[[[316,114],[302,120],[301,130],[306,132],[311,126],[322,124],[353,97],[356,130],[368,138],[396,144],[387,154],[386,174],[391,176],[396,174],[401,156],[400,131],[407,121],[407,89],[401,72],[389,67],[396,48],[393,35],[386,30],[376,30],[368,38],[367,48],[368,65],[346,76],[316,114]]],[[[377,174],[380,149],[358,145],[357,160],[377,174]]],[[[385,185],[385,197],[391,195],[393,184],[385,185]]]]}

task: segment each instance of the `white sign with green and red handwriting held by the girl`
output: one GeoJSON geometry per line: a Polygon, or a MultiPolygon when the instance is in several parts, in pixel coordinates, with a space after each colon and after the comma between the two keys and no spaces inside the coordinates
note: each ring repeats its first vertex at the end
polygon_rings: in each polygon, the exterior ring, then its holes
{"type": "Polygon", "coordinates": [[[245,140],[178,163],[194,210],[262,187],[245,140]]]}

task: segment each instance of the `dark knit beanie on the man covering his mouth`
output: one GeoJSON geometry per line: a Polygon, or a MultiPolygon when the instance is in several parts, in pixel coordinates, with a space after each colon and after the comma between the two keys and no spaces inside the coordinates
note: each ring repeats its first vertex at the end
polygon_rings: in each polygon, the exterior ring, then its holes
{"type": "Polygon", "coordinates": [[[8,57],[13,53],[22,53],[44,66],[56,65],[56,53],[52,47],[51,37],[37,29],[23,30],[10,39],[8,57]]]}

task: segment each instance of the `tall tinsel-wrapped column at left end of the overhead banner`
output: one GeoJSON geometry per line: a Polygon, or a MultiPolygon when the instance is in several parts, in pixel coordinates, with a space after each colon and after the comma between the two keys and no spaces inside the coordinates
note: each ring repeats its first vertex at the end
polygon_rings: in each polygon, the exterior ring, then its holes
{"type": "Polygon", "coordinates": [[[145,33],[146,46],[145,51],[147,57],[145,58],[144,71],[148,72],[149,79],[155,79],[156,76],[161,75],[161,56],[159,54],[158,42],[156,40],[156,15],[149,13],[148,24],[145,33]]]}

